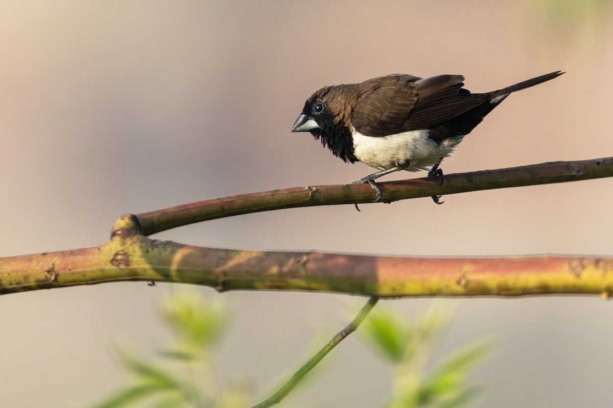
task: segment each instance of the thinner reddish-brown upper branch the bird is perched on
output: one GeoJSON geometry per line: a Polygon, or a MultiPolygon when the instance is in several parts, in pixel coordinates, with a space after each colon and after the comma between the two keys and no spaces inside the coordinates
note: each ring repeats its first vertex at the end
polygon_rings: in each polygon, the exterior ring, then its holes
{"type": "MultiPolygon", "coordinates": [[[[494,188],[521,187],[613,176],[613,157],[592,160],[554,161],[539,165],[473,171],[439,177],[378,183],[381,202],[407,198],[466,193],[494,188]]],[[[307,206],[372,202],[375,191],[368,184],[316,185],[243,194],[138,214],[146,236],[178,226],[245,213],[307,206]]]]}

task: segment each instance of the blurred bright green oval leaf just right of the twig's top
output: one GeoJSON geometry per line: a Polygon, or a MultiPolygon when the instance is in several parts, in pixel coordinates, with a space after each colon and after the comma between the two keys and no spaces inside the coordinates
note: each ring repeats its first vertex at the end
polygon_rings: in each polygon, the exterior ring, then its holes
{"type": "Polygon", "coordinates": [[[409,343],[410,328],[397,314],[379,307],[362,323],[361,333],[392,362],[400,362],[409,343]]]}

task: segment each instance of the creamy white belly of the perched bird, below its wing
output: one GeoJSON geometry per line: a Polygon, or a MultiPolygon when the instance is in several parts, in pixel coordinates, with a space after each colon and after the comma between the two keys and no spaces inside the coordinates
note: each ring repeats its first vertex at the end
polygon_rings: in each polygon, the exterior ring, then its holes
{"type": "Polygon", "coordinates": [[[462,136],[456,136],[438,144],[428,138],[429,133],[428,130],[411,130],[377,138],[353,130],[353,154],[376,169],[394,166],[406,166],[408,171],[428,169],[451,154],[462,141],[462,136]]]}

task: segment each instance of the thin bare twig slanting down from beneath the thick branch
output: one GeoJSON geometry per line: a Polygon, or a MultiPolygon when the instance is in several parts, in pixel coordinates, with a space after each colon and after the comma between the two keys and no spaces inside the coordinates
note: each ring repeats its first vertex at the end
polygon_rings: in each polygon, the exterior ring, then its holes
{"type": "Polygon", "coordinates": [[[311,369],[313,369],[319,362],[321,362],[322,358],[326,357],[326,355],[330,351],[332,351],[332,349],[336,347],[338,343],[343,341],[344,338],[346,338],[351,333],[356,331],[356,329],[359,327],[362,321],[364,321],[364,318],[368,315],[368,313],[370,313],[370,311],[376,305],[378,300],[379,300],[378,297],[371,296],[368,299],[368,302],[366,302],[366,304],[359,311],[357,316],[351,321],[351,323],[346,325],[346,327],[343,328],[343,330],[338,332],[336,336],[330,339],[330,341],[326,344],[326,346],[322,347],[322,349],[319,350],[317,354],[315,354],[313,357],[311,357],[311,359],[308,360],[308,362],[305,365],[300,367],[300,369],[294,373],[291,379],[289,379],[283,385],[283,387],[281,387],[273,395],[258,402],[251,408],[268,408],[268,407],[271,407],[281,402],[281,400],[285,398],[287,394],[289,394],[290,391],[293,390],[296,385],[298,385],[298,383],[303,379],[303,377],[305,377],[309,373],[309,371],[311,371],[311,369]]]}

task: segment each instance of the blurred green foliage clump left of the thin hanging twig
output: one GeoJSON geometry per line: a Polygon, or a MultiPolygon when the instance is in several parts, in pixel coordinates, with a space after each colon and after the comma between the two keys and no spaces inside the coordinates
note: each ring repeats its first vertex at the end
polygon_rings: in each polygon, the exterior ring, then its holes
{"type": "Polygon", "coordinates": [[[154,362],[134,352],[117,351],[119,362],[133,380],[93,407],[247,406],[250,395],[246,387],[232,386],[223,393],[213,376],[210,354],[229,321],[227,309],[197,292],[181,291],[164,303],[160,314],[175,341],[162,349],[154,362]]]}

